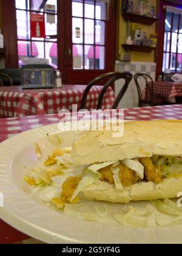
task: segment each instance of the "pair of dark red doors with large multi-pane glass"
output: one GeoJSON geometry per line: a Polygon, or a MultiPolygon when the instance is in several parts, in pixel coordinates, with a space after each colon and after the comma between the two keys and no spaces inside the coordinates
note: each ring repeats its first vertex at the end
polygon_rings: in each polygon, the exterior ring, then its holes
{"type": "Polygon", "coordinates": [[[1,0],[1,3],[7,68],[21,66],[26,57],[46,58],[50,65],[58,66],[64,84],[87,84],[103,73],[114,71],[115,0],[1,0]],[[32,13],[44,16],[45,38],[31,37],[32,13]]]}

